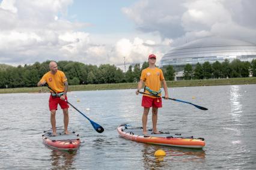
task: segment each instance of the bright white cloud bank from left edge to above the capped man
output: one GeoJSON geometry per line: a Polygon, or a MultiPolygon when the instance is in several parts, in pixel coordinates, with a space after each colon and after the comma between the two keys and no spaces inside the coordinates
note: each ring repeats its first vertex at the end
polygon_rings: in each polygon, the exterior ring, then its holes
{"type": "Polygon", "coordinates": [[[70,0],[2,1],[0,63],[76,60],[93,65],[119,65],[125,56],[127,63],[132,64],[144,62],[149,53],[160,53],[160,48],[169,45],[166,40],[162,42],[156,32],[91,35],[77,31],[90,24],[66,19],[67,8],[72,3],[70,0]]]}

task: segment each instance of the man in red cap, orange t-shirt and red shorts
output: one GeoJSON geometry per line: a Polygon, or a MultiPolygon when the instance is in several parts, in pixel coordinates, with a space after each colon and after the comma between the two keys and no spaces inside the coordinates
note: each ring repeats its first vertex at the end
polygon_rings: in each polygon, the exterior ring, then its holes
{"type": "Polygon", "coordinates": [[[157,111],[158,108],[162,107],[162,98],[161,98],[161,83],[163,85],[163,89],[165,90],[165,99],[168,99],[168,87],[166,85],[165,78],[163,77],[163,72],[161,69],[157,68],[156,65],[156,56],[154,54],[150,54],[148,56],[148,68],[145,68],[141,72],[141,80],[138,83],[138,90],[136,91],[136,95],[139,94],[139,90],[141,89],[143,83],[145,83],[144,92],[157,95],[143,95],[142,96],[142,107],[144,107],[143,115],[142,115],[142,127],[143,134],[147,134],[147,119],[150,107],[152,107],[152,123],[153,123],[153,132],[159,134],[160,132],[157,130],[157,111]]]}

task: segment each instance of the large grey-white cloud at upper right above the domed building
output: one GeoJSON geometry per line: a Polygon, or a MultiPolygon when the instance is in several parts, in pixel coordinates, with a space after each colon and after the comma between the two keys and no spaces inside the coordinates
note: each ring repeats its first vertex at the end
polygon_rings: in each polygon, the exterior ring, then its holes
{"type": "Polygon", "coordinates": [[[254,0],[141,0],[123,12],[138,31],[158,32],[173,45],[211,35],[256,42],[255,6],[254,0]]]}

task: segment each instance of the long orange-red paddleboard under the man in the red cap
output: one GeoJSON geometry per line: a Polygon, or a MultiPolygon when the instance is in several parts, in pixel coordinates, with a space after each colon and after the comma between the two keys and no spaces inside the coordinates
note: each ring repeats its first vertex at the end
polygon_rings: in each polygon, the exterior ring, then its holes
{"type": "Polygon", "coordinates": [[[142,128],[134,128],[131,125],[126,124],[118,126],[117,131],[123,138],[148,144],[185,148],[203,148],[206,145],[204,138],[182,136],[181,133],[170,134],[169,132],[154,134],[150,130],[148,130],[147,134],[144,135],[142,133],[142,128]]]}

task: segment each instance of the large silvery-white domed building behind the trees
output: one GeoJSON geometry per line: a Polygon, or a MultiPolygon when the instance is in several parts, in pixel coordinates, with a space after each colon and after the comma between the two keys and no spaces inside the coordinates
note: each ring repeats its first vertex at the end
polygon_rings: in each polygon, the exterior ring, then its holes
{"type": "Polygon", "coordinates": [[[160,60],[160,67],[224,62],[225,59],[251,62],[256,59],[256,44],[218,37],[202,38],[170,50],[160,60]]]}

